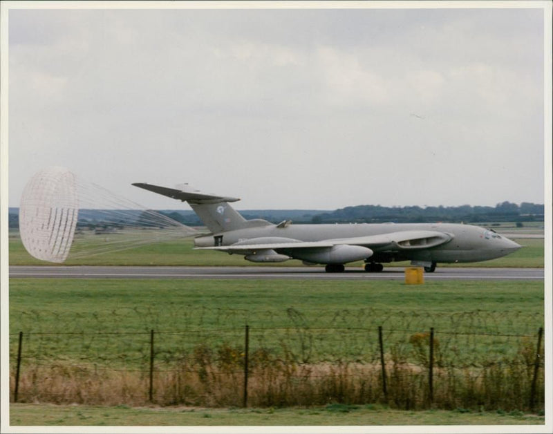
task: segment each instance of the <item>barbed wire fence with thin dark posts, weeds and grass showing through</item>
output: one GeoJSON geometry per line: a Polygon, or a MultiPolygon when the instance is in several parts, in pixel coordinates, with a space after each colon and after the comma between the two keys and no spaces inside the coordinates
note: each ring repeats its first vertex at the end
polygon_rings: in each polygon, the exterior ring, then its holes
{"type": "Polygon", "coordinates": [[[288,316],[288,327],[12,333],[12,401],[543,411],[543,328],[480,332],[481,315],[473,332],[288,316]]]}

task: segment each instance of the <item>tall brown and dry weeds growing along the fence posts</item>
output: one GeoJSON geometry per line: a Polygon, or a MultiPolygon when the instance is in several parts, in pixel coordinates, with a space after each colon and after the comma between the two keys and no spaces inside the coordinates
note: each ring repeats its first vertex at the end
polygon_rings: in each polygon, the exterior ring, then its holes
{"type": "MultiPolygon", "coordinates": [[[[532,355],[535,356],[531,341],[523,341],[512,359],[489,360],[478,367],[456,367],[453,361],[442,361],[442,366],[433,371],[433,397],[429,394],[427,361],[421,360],[420,364],[407,361],[410,352],[420,351],[420,345],[418,341],[414,348],[396,345],[385,355],[386,394],[382,366],[377,363],[343,359],[301,363],[284,342],[279,351],[257,348],[249,355],[248,405],[340,403],[384,404],[405,410],[530,410],[532,355]]],[[[422,357],[423,353],[419,354],[422,357]]],[[[244,359],[243,349],[228,343],[216,348],[200,344],[178,359],[156,366],[153,402],[163,406],[241,406],[244,359]]],[[[543,367],[538,372],[536,402],[543,408],[543,367]]],[[[26,365],[19,380],[19,402],[145,405],[149,403],[149,371],[117,370],[76,361],[26,365]]]]}

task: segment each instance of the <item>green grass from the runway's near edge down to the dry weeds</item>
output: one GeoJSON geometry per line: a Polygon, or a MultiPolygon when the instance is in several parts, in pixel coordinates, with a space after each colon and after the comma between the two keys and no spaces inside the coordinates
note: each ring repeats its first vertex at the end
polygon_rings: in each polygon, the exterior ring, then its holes
{"type": "Polygon", "coordinates": [[[33,357],[144,364],[150,330],[169,360],[200,343],[241,346],[248,324],[252,348],[285,342],[304,361],[371,360],[382,325],[388,348],[408,352],[412,334],[434,328],[442,351],[474,362],[533,337],[543,296],[534,281],[11,279],[10,355],[23,331],[33,357]]]}

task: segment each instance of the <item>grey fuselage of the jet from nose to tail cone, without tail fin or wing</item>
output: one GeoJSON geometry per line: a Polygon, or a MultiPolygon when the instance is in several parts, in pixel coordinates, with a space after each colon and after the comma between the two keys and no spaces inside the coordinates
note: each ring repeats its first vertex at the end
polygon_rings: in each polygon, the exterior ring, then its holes
{"type": "MultiPolygon", "coordinates": [[[[201,236],[194,240],[196,247],[232,245],[254,238],[292,238],[301,241],[321,241],[337,238],[355,238],[391,234],[394,232],[424,230],[443,232],[452,236],[447,243],[427,249],[398,249],[397,245],[371,246],[370,260],[379,263],[393,261],[424,261],[435,263],[461,263],[487,261],[510,254],[521,246],[505,236],[484,227],[453,223],[379,223],[335,225],[273,225],[264,220],[250,220],[249,227],[219,234],[201,236]]],[[[279,254],[294,256],[287,249],[275,249],[279,254]]]]}

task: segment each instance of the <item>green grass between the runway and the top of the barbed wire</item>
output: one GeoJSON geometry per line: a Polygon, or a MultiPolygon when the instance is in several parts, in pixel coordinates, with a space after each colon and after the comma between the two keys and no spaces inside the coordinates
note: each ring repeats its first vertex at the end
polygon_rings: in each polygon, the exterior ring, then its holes
{"type": "Polygon", "coordinates": [[[543,291],[538,281],[11,279],[10,332],[284,327],[291,309],[311,327],[410,316],[423,330],[478,331],[467,316],[476,312],[496,317],[497,332],[523,332],[543,322],[543,291]],[[452,319],[460,314],[464,325],[452,319]]]}

